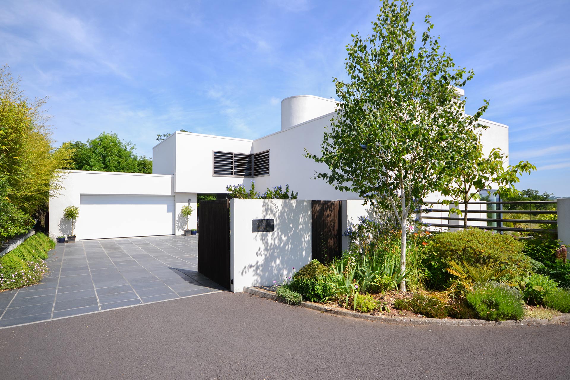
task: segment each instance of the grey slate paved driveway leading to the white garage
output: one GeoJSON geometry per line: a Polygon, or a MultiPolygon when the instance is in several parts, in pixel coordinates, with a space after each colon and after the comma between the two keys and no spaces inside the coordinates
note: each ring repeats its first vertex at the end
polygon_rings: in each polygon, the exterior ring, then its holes
{"type": "Polygon", "coordinates": [[[225,290],[197,272],[197,236],[56,244],[41,284],[0,293],[0,327],[225,290]]]}

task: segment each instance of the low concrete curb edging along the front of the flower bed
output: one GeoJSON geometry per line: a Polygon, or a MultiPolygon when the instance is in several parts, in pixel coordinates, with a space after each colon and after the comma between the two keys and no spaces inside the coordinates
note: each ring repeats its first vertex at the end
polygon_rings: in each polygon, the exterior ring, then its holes
{"type": "MultiPolygon", "coordinates": [[[[259,289],[255,287],[243,288],[244,293],[249,293],[254,296],[267,298],[270,300],[277,300],[275,293],[259,289]]],[[[328,307],[314,302],[303,301],[299,306],[317,310],[327,314],[335,314],[338,316],[358,318],[367,321],[379,321],[392,325],[431,325],[431,326],[531,326],[531,325],[556,325],[560,323],[570,322],[570,314],[562,314],[547,319],[526,318],[520,321],[483,321],[478,319],[438,319],[438,318],[408,318],[408,317],[386,317],[386,316],[372,316],[370,314],[358,313],[352,310],[328,307]]]]}

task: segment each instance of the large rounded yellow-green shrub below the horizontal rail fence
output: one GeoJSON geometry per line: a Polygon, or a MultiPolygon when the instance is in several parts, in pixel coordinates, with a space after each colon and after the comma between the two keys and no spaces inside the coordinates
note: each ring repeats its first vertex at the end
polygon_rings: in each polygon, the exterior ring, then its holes
{"type": "Polygon", "coordinates": [[[435,235],[432,242],[430,246],[434,260],[443,263],[455,261],[470,265],[495,264],[499,269],[507,271],[507,277],[524,276],[531,270],[531,261],[522,253],[523,243],[509,235],[468,228],[442,232],[435,235]]]}

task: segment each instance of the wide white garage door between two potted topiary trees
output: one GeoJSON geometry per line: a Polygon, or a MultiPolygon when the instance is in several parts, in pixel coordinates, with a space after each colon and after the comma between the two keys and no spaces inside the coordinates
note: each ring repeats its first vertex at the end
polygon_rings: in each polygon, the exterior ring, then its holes
{"type": "Polygon", "coordinates": [[[81,194],[79,239],[174,234],[174,197],[170,195],[81,194]]]}

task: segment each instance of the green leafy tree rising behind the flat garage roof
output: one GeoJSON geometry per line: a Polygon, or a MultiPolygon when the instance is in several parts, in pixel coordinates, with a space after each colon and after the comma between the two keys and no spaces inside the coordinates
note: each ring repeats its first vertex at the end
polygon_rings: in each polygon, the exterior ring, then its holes
{"type": "Polygon", "coordinates": [[[72,150],[70,170],[117,171],[120,173],[152,173],[152,160],[135,154],[135,144],[121,141],[116,133],[101,133],[87,143],[69,141],[62,148],[72,150]]]}

